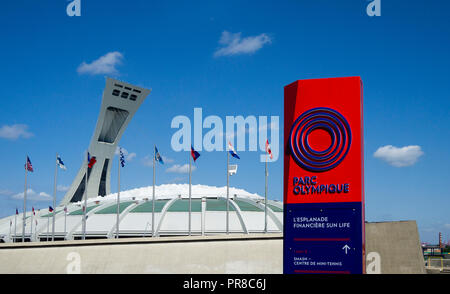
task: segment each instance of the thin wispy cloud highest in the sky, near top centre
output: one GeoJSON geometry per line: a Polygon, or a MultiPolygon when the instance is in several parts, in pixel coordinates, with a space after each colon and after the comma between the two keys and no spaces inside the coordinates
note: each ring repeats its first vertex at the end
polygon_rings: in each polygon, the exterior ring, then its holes
{"type": "Polygon", "coordinates": [[[219,40],[219,44],[222,47],[214,52],[214,56],[252,54],[271,42],[272,40],[266,34],[241,38],[241,33],[232,34],[228,31],[223,31],[219,40]]]}

